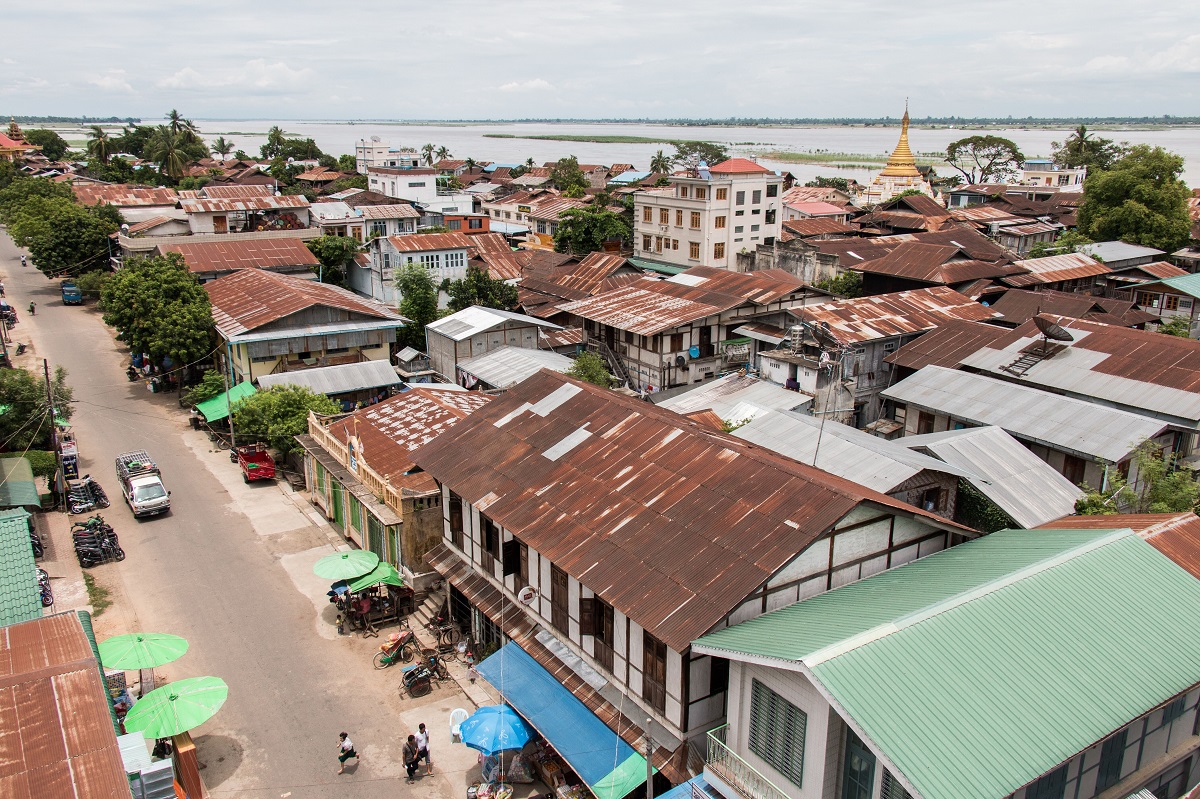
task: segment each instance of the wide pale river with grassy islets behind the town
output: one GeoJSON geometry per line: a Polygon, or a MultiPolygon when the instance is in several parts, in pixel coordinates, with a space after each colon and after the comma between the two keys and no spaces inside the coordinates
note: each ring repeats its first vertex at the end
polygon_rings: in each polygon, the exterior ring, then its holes
{"type": "MultiPolygon", "coordinates": [[[[146,120],[144,124],[150,124],[146,120]]],[[[456,158],[523,163],[532,157],[541,164],[566,155],[580,163],[632,163],[646,169],[658,150],[673,152],[670,144],[610,144],[593,142],[548,142],[542,139],[487,138],[502,136],[641,136],[661,139],[703,139],[730,145],[734,155],[758,156],[768,151],[787,152],[846,152],[886,156],[895,146],[900,130],[896,127],[684,127],[670,125],[605,124],[605,122],[485,122],[485,124],[397,124],[349,121],[281,121],[281,120],[197,120],[204,137],[232,139],[238,148],[257,155],[272,125],[283,128],[288,137],[312,138],[317,146],[331,155],[353,154],[360,139],[378,136],[394,146],[420,149],[426,143],[445,146],[456,158]]],[[[1051,142],[1062,142],[1069,128],[919,128],[910,131],[913,152],[936,157],[946,145],[976,133],[1012,139],[1026,157],[1049,156],[1051,142]]],[[[1200,128],[1154,127],[1138,130],[1098,130],[1097,136],[1130,144],[1159,145],[1184,157],[1183,178],[1189,186],[1200,186],[1200,128]]],[[[782,163],[758,157],[760,162],[776,169],[787,169],[802,181],[816,175],[853,178],[870,181],[878,167],[865,169],[838,168],[832,164],[782,163]]],[[[940,174],[953,174],[942,164],[940,174]]]]}

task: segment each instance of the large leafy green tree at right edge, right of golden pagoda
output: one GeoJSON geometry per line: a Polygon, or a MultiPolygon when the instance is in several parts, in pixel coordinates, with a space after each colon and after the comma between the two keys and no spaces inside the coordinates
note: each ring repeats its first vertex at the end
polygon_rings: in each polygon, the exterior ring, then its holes
{"type": "Polygon", "coordinates": [[[1175,252],[1190,236],[1183,157],[1139,144],[1111,169],[1088,175],[1079,229],[1096,241],[1128,241],[1175,252]]]}

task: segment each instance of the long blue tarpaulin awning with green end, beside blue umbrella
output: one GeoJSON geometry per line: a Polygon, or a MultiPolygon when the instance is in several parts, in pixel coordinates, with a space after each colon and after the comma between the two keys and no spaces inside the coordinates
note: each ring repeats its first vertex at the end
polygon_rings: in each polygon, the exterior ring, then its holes
{"type": "Polygon", "coordinates": [[[479,665],[512,709],[541,733],[596,799],[622,799],[646,785],[646,758],[516,643],[479,665]]]}

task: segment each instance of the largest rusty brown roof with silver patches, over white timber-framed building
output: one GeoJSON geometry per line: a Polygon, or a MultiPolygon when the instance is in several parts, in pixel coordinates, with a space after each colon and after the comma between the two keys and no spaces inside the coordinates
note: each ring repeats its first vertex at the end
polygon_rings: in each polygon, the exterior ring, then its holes
{"type": "Polygon", "coordinates": [[[676,651],[863,503],[914,511],[542,370],[413,461],[676,651]]]}

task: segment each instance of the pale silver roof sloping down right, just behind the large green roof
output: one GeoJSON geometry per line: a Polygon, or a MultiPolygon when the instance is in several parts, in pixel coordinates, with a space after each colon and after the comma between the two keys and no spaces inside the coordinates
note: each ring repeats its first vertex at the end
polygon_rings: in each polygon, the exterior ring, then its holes
{"type": "Polygon", "coordinates": [[[1075,500],[1084,495],[1070,480],[1000,427],[906,435],[895,443],[966,469],[971,485],[1025,528],[1072,513],[1075,500]]]}

